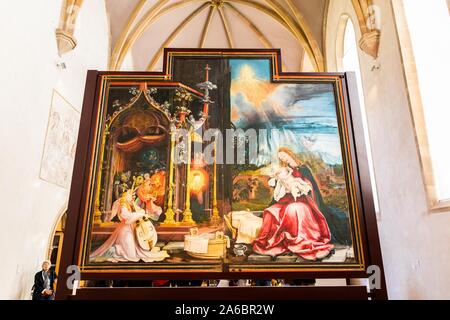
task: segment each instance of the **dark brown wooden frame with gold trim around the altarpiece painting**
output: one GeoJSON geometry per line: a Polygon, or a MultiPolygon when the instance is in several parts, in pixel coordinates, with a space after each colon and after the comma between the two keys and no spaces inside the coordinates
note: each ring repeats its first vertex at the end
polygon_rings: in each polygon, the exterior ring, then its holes
{"type": "MultiPolygon", "coordinates": [[[[81,272],[81,280],[133,280],[133,279],[242,279],[242,278],[286,278],[286,279],[315,279],[315,278],[366,278],[366,268],[370,265],[377,265],[381,269],[381,288],[373,290],[373,297],[386,298],[386,289],[384,282],[383,264],[379,246],[378,231],[375,209],[371,194],[369,169],[367,164],[363,128],[360,121],[361,114],[356,92],[356,80],[352,73],[284,73],[281,71],[281,57],[279,50],[235,50],[235,49],[166,49],[163,72],[98,72],[89,71],[86,82],[85,98],[83,103],[83,112],[78,137],[77,156],[74,165],[71,194],[68,205],[68,217],[66,224],[66,233],[61,258],[61,269],[65,270],[69,265],[79,265],[79,252],[81,246],[81,232],[84,221],[85,199],[88,196],[92,164],[92,150],[94,147],[94,136],[97,125],[96,114],[99,108],[99,93],[104,77],[120,77],[124,75],[148,77],[150,80],[161,79],[171,81],[172,58],[180,55],[191,56],[263,56],[273,57],[273,80],[299,79],[308,77],[318,77],[323,79],[334,79],[340,86],[343,99],[344,116],[347,119],[348,147],[350,150],[350,162],[353,173],[355,204],[359,208],[358,219],[360,225],[361,252],[363,255],[363,264],[354,268],[323,268],[320,271],[310,268],[303,270],[239,270],[238,267],[223,265],[222,270],[176,270],[164,272],[164,270],[139,270],[139,272],[130,272],[129,270],[106,270],[81,272]],[[200,271],[200,272],[199,272],[200,271]]],[[[65,283],[68,274],[60,273],[60,282],[65,283]]],[[[350,287],[348,287],[350,288],[350,287]]],[[[255,288],[256,290],[267,290],[268,288],[255,288]]],[[[308,290],[305,287],[302,290],[308,290]]],[[[310,288],[309,288],[310,289],[310,288]]],[[[87,295],[83,298],[97,296],[98,292],[92,288],[81,289],[87,295]]],[[[111,289],[112,291],[115,289],[111,289]]],[[[124,289],[122,289],[124,290],[124,289]]],[[[153,289],[154,290],[154,289],[153,289]]],[[[198,289],[192,289],[198,290],[198,289]]],[[[221,289],[217,289],[221,290],[221,289]]],[[[302,291],[300,290],[300,291],[302,291]]],[[[314,289],[316,290],[316,289],[314,289]]],[[[343,289],[345,292],[345,289],[343,289]]],[[[111,291],[111,292],[112,292],[111,291]]],[[[297,290],[298,291],[298,290],[297,290]]],[[[298,291],[298,292],[300,292],[298,291]]],[[[339,291],[339,290],[338,290],[339,291]]],[[[118,292],[118,291],[116,291],[118,292]]],[[[153,292],[153,291],[152,291],[153,292]]],[[[204,292],[204,291],[203,291],[204,292]]],[[[259,292],[259,291],[258,291],[259,292]]],[[[302,291],[303,292],[303,291],[302,291]]],[[[300,294],[300,293],[299,293],[300,294]]],[[[301,293],[300,296],[304,294],[301,293]]],[[[340,293],[341,294],[341,293],[340,293]]],[[[57,297],[66,299],[70,296],[70,290],[60,286],[57,297]]],[[[113,297],[113,293],[108,293],[108,297],[113,297]]],[[[220,296],[220,294],[218,295],[220,296]]],[[[98,296],[97,296],[98,297],[98,296]]],[[[150,296],[149,296],[150,297],[150,296]]],[[[337,296],[336,296],[337,297],[337,296]]],[[[200,296],[199,296],[200,298],[200,296]]]]}

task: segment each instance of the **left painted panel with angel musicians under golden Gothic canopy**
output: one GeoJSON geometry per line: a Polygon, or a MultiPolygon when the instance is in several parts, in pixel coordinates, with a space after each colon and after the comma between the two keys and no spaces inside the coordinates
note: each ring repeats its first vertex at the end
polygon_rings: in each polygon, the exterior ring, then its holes
{"type": "Polygon", "coordinates": [[[194,153],[204,94],[177,82],[103,79],[99,99],[83,270],[220,268],[227,239],[212,222],[214,166],[194,153]]]}

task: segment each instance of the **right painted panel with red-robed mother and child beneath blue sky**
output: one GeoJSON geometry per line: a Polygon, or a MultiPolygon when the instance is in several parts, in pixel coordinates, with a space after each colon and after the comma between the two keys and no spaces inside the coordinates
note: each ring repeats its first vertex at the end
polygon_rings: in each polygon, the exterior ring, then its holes
{"type": "Polygon", "coordinates": [[[269,59],[230,59],[229,67],[237,156],[228,261],[240,270],[359,265],[336,82],[274,82],[269,59]]]}

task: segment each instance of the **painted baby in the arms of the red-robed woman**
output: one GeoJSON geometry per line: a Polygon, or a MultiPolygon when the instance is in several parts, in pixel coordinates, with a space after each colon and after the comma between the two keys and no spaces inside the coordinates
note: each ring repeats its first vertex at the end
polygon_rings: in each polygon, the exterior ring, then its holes
{"type": "Polygon", "coordinates": [[[290,193],[294,197],[294,201],[297,201],[297,198],[311,192],[311,184],[300,177],[294,177],[293,172],[294,170],[289,166],[282,166],[274,170],[272,178],[269,180],[269,186],[275,187],[273,192],[275,201],[279,201],[287,193],[290,193]]]}

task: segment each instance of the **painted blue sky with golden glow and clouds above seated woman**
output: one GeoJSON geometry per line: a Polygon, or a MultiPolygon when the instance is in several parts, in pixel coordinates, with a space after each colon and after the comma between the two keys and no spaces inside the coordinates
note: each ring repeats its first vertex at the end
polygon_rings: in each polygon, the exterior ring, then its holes
{"type": "Polygon", "coordinates": [[[232,59],[230,66],[234,125],[278,130],[268,133],[260,149],[274,154],[287,146],[295,152],[318,153],[329,164],[342,163],[331,84],[270,83],[268,60],[232,59]]]}

